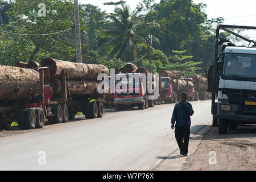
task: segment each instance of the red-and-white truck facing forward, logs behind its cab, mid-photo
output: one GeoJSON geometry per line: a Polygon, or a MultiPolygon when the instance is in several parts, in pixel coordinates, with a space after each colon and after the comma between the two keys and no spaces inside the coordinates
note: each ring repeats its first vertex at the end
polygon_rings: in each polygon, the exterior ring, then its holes
{"type": "Polygon", "coordinates": [[[115,94],[114,106],[117,111],[125,109],[126,107],[136,107],[139,109],[147,109],[160,104],[160,95],[150,92],[148,88],[151,86],[155,89],[156,77],[151,75],[145,68],[137,68],[134,64],[128,63],[123,68],[118,70],[115,75],[115,94]],[[149,77],[149,78],[148,78],[149,77]],[[137,79],[138,78],[138,79],[137,79]],[[148,81],[151,80],[151,81],[148,81]],[[148,84],[149,87],[148,87],[148,84]]]}

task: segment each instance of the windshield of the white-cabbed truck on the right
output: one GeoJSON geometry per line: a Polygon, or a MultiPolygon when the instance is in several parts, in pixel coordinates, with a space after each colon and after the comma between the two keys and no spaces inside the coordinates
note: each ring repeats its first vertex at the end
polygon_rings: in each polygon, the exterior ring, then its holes
{"type": "Polygon", "coordinates": [[[255,78],[256,55],[226,53],[224,57],[223,75],[255,78]]]}

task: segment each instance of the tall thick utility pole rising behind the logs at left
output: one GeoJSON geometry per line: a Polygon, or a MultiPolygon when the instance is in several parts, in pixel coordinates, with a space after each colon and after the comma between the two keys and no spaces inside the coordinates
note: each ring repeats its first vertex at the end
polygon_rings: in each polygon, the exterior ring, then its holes
{"type": "Polygon", "coordinates": [[[75,6],[75,34],[76,34],[76,63],[82,63],[81,34],[78,0],[74,0],[75,6]]]}

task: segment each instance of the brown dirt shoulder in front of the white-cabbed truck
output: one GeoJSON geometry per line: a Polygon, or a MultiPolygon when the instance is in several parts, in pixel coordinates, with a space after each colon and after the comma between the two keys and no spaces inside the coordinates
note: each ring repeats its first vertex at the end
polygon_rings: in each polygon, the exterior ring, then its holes
{"type": "Polygon", "coordinates": [[[256,126],[238,126],[225,135],[212,127],[182,169],[256,171],[256,126]]]}

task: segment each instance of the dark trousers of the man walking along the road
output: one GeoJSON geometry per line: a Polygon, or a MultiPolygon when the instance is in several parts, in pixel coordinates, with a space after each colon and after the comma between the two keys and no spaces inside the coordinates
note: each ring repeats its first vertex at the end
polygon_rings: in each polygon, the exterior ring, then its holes
{"type": "Polygon", "coordinates": [[[190,126],[175,127],[175,138],[177,140],[180,151],[182,151],[183,154],[188,154],[189,136],[190,126]]]}

